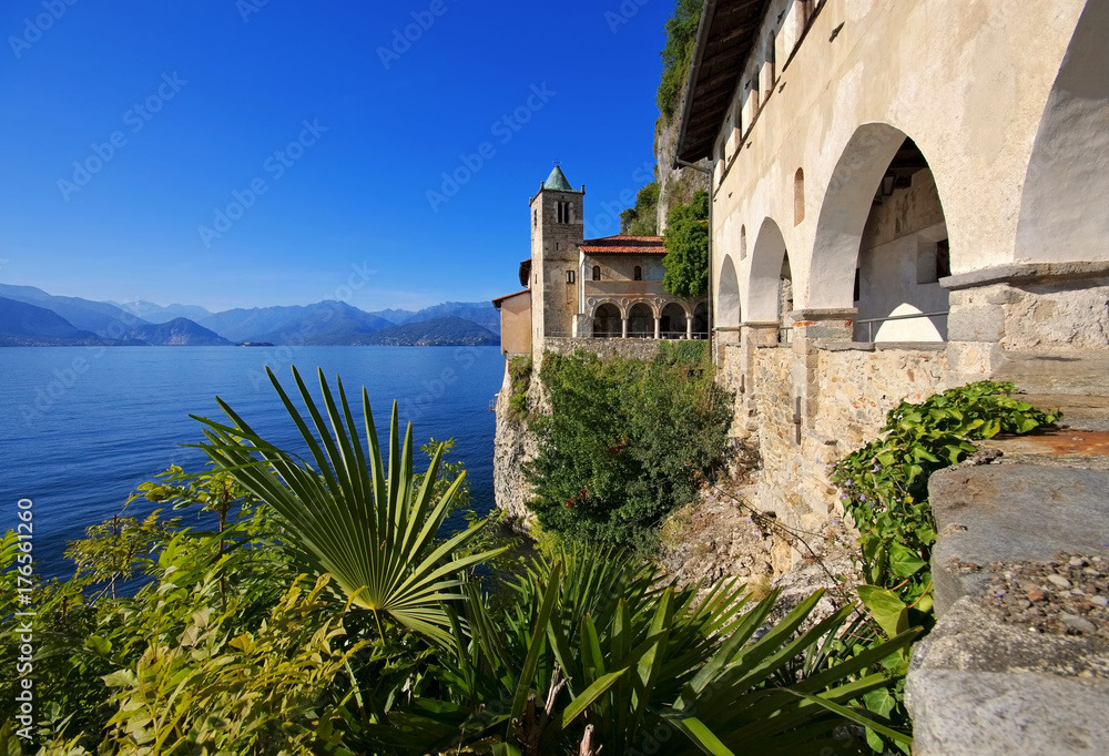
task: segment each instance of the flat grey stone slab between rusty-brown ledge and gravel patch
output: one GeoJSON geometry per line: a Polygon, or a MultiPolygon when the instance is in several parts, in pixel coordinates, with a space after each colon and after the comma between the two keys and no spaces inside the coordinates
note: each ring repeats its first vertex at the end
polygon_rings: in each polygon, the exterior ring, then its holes
{"type": "Polygon", "coordinates": [[[1060,551],[1109,555],[1109,471],[985,464],[937,472],[928,484],[936,528],[936,611],[983,590],[964,565],[1049,561],[1060,551]]]}

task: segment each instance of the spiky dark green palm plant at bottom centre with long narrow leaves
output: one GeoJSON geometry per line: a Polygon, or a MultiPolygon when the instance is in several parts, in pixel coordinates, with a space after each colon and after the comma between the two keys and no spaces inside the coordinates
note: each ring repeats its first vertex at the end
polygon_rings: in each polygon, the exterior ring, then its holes
{"type": "Polygon", "coordinates": [[[535,560],[503,611],[471,592],[457,647],[438,660],[446,689],[417,692],[368,734],[414,756],[848,753],[848,721],[910,740],[858,702],[904,675],[881,662],[916,631],[844,661],[827,650],[854,607],[803,631],[817,592],[767,627],[777,593],[752,605],[734,581],[700,589],[619,550],[535,560]]]}

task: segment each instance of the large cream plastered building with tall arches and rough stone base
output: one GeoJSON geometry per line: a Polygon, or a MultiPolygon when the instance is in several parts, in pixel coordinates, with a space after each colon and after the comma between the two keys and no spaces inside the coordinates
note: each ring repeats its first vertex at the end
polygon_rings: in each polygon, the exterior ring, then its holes
{"type": "Polygon", "coordinates": [[[1109,1],[706,11],[678,157],[713,164],[714,353],[755,503],[815,527],[825,466],[903,398],[1109,353],[1109,1]]]}

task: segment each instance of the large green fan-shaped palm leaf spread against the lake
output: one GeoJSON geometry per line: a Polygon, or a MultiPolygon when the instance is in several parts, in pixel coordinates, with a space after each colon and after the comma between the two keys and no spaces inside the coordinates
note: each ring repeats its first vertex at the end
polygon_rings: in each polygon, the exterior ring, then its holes
{"type": "Polygon", "coordinates": [[[411,423],[401,443],[397,405],[389,423],[388,468],[374,425],[369,396],[362,392],[363,436],[350,403],[336,380],[336,396],[318,371],[323,409],[316,405],[296,368],[293,377],[307,409],[305,419],[273,371],[266,374],[308,448],[311,461],[277,448],[251,428],[218,397],[231,423],[206,418],[206,442],[199,445],[215,464],[284,518],[309,564],[330,573],[355,606],[380,615],[437,641],[450,641],[444,602],[459,601],[461,575],[502,549],[465,554],[485,521],[447,540],[436,539],[451,502],[462,486],[458,477],[441,497],[435,482],[442,445],[417,489],[413,473],[411,423]]]}

